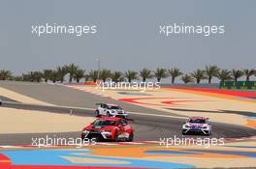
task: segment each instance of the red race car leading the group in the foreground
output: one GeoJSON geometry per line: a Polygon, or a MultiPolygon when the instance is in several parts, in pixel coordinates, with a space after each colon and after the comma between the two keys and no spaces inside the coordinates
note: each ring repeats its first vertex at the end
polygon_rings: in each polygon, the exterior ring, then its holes
{"type": "Polygon", "coordinates": [[[98,118],[92,124],[84,127],[81,131],[81,139],[92,139],[95,141],[133,141],[134,130],[125,119],[122,118],[98,118]]]}

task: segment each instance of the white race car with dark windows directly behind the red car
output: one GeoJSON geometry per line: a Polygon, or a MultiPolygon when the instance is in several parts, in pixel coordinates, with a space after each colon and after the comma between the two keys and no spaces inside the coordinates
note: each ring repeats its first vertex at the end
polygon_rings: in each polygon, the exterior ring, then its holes
{"type": "Polygon", "coordinates": [[[127,113],[116,104],[97,103],[95,110],[96,117],[108,116],[127,119],[127,113]]]}

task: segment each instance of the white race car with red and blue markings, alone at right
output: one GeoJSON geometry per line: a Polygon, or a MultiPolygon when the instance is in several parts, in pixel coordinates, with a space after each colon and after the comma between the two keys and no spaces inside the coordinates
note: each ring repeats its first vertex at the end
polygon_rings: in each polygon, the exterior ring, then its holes
{"type": "Polygon", "coordinates": [[[182,134],[203,133],[211,135],[211,124],[205,117],[189,117],[187,122],[182,126],[182,134]]]}

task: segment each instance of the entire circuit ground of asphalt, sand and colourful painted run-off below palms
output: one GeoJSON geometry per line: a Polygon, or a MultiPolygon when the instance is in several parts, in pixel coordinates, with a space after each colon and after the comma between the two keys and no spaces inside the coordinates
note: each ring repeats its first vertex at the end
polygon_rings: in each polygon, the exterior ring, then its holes
{"type": "MultiPolygon", "coordinates": [[[[4,118],[1,120],[0,149],[1,146],[4,147],[1,152],[7,157],[5,161],[11,161],[16,169],[28,167],[25,164],[45,169],[45,166],[50,167],[53,163],[63,167],[80,166],[81,169],[85,166],[256,166],[253,162],[256,156],[253,152],[253,147],[256,147],[253,139],[256,136],[255,94],[187,88],[103,92],[83,85],[0,82],[0,99],[3,100],[0,110],[4,118]],[[129,118],[133,120],[130,124],[135,129],[133,144],[104,142],[96,147],[82,149],[21,149],[22,145],[30,145],[31,139],[35,137],[80,137],[81,128],[95,119],[95,103],[99,102],[116,103],[129,113],[129,118]],[[212,135],[183,136],[181,126],[189,116],[208,117],[212,123],[212,135]],[[227,144],[208,149],[178,145],[166,148],[163,144],[159,146],[164,138],[175,137],[223,138],[227,144]],[[33,162],[21,155],[27,155],[33,162]],[[45,160],[40,160],[42,158],[45,160]],[[239,159],[243,165],[236,160],[227,162],[227,159],[239,159]]],[[[0,156],[0,163],[5,157],[0,156]]]]}

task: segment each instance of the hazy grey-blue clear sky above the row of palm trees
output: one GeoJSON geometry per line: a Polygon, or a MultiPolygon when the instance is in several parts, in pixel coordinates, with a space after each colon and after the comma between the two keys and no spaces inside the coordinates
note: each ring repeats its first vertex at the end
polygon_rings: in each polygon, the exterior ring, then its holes
{"type": "Polygon", "coordinates": [[[84,70],[183,71],[218,65],[256,68],[256,1],[251,0],[1,0],[0,69],[16,74],[76,63],[84,70]],[[94,36],[31,34],[35,24],[97,25],[94,36]],[[225,25],[225,34],[159,35],[159,25],[225,25]]]}

